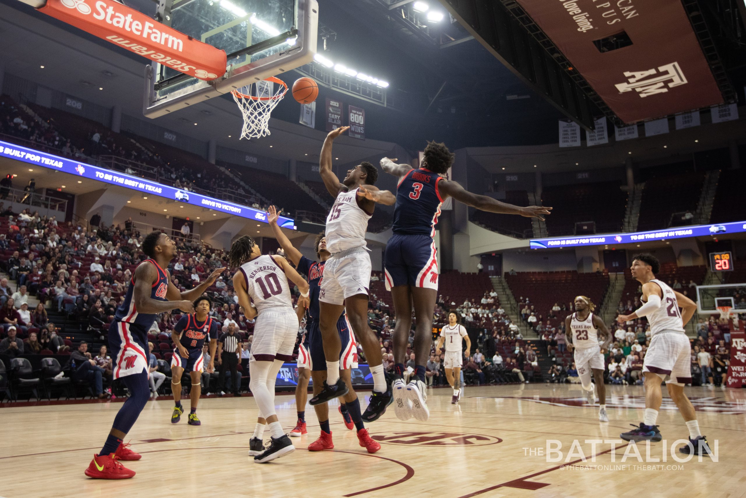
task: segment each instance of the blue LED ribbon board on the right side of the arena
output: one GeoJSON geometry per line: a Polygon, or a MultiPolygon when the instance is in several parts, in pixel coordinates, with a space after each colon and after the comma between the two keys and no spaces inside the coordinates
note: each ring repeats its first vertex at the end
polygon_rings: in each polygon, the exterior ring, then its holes
{"type": "Polygon", "coordinates": [[[635,231],[627,234],[599,234],[590,237],[557,237],[530,240],[531,249],[560,249],[578,246],[608,246],[653,240],[683,239],[706,235],[738,234],[746,231],[746,222],[721,223],[719,225],[680,226],[670,230],[635,231]]]}

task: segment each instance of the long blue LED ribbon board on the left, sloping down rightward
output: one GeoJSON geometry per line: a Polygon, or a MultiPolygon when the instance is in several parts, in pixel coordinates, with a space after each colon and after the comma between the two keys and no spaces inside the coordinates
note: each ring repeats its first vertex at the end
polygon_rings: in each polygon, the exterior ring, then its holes
{"type": "MultiPolygon", "coordinates": [[[[175,187],[169,187],[168,185],[145,180],[145,178],[138,178],[137,176],[126,175],[125,173],[115,172],[110,169],[99,168],[98,166],[72,161],[67,158],[60,158],[60,156],[57,155],[47,154],[46,152],[40,152],[22,146],[16,146],[12,143],[3,142],[2,140],[0,140],[0,158],[15,159],[16,161],[23,161],[24,163],[34,164],[35,166],[66,172],[80,178],[103,181],[107,184],[125,187],[151,196],[163,197],[163,199],[170,199],[172,201],[181,202],[182,204],[189,204],[200,208],[209,208],[213,211],[233,214],[237,217],[246,218],[247,220],[267,222],[266,212],[258,209],[233,204],[233,202],[225,202],[220,199],[215,199],[214,197],[202,196],[201,194],[190,192],[188,190],[179,190],[175,187]]],[[[280,217],[278,219],[278,225],[283,228],[290,228],[291,230],[296,229],[295,222],[290,218],[280,217]]]]}

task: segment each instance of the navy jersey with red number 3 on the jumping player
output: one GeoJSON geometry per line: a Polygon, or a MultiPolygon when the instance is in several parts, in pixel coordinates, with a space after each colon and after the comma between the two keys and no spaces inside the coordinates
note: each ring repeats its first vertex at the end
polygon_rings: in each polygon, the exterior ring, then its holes
{"type": "Polygon", "coordinates": [[[396,189],[394,208],[395,234],[423,234],[435,236],[435,225],[440,216],[443,199],[438,183],[443,179],[430,169],[410,169],[396,189]]]}

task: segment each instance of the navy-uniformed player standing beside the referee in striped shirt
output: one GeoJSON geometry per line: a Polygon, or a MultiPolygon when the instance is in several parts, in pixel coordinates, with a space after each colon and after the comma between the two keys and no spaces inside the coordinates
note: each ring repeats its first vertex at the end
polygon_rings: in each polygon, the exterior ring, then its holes
{"type": "Polygon", "coordinates": [[[208,316],[213,303],[207,296],[199,296],[194,302],[194,314],[181,316],[178,323],[171,332],[171,340],[174,341],[174,355],[171,357],[171,392],[174,394],[174,412],[171,415],[171,423],[181,420],[184,409],[181,408],[181,374],[189,372],[192,378],[192,390],[189,397],[192,400],[189,420],[190,426],[199,426],[201,422],[197,417],[197,403],[202,393],[202,371],[204,370],[204,355],[202,344],[210,337],[210,363],[207,364],[207,373],[215,370],[215,349],[218,346],[219,322],[208,316]]]}

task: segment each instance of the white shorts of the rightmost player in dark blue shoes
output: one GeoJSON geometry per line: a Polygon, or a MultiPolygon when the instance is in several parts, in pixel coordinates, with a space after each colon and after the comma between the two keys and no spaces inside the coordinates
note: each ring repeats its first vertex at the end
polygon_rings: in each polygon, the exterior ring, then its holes
{"type": "Polygon", "coordinates": [[[682,332],[664,331],[653,334],[651,346],[642,362],[643,372],[657,373],[668,384],[692,382],[692,346],[682,332]]]}

